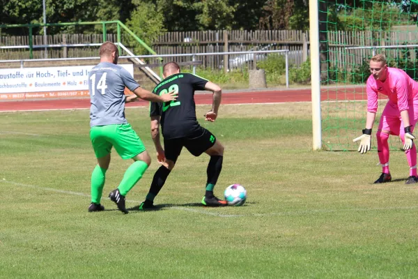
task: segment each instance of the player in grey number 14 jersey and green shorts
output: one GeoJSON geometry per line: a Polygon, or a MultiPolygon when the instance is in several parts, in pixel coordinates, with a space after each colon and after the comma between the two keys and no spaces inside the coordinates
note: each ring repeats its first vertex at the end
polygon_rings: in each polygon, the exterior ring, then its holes
{"type": "Polygon", "coordinates": [[[112,146],[121,158],[134,160],[126,170],[118,188],[109,194],[110,199],[123,213],[128,213],[125,208],[125,195],[141,179],[151,163],[144,144],[125,119],[125,103],[133,102],[137,98],[153,102],[170,102],[177,98],[174,91],[157,96],[142,89],[125,68],[116,65],[118,56],[118,47],[114,43],[103,43],[100,47],[100,63],[88,74],[88,90],[91,98],[90,139],[98,159],[98,165],[91,174],[89,212],[104,210],[100,199],[104,177],[110,164],[112,146]],[[134,94],[126,97],[125,87],[134,94]]]}

